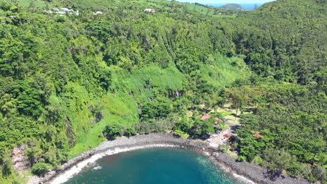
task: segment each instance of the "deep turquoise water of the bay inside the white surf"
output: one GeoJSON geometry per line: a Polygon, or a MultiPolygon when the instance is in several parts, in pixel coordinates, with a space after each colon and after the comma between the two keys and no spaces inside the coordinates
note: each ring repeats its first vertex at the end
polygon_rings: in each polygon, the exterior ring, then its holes
{"type": "Polygon", "coordinates": [[[146,148],[109,155],[69,179],[71,183],[241,183],[203,155],[179,148],[146,148]]]}

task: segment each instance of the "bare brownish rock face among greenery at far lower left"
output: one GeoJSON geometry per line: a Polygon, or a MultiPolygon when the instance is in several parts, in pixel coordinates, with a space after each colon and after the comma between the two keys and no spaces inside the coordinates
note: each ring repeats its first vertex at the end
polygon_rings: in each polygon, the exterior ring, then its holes
{"type": "Polygon", "coordinates": [[[26,144],[20,144],[13,148],[13,153],[11,157],[13,160],[13,167],[15,171],[22,171],[29,167],[29,161],[25,155],[25,149],[27,148],[26,144]]]}

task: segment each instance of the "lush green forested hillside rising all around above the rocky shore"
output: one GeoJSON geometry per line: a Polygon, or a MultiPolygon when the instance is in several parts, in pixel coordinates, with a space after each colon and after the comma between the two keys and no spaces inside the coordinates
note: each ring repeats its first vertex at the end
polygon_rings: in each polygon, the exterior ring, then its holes
{"type": "Polygon", "coordinates": [[[0,183],[22,182],[14,148],[43,174],[119,135],[205,137],[214,127],[202,114],[226,103],[252,112],[231,140],[238,160],[326,183],[326,2],[212,11],[174,1],[1,1],[0,183]]]}

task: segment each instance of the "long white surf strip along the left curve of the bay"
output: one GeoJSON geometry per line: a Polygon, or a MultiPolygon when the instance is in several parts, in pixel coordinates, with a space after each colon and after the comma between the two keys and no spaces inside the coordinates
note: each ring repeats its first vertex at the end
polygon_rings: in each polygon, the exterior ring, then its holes
{"type": "Polygon", "coordinates": [[[142,148],[158,148],[158,147],[180,147],[177,145],[171,145],[171,144],[151,144],[151,145],[145,145],[145,146],[133,146],[129,148],[110,148],[108,151],[105,151],[103,153],[98,153],[96,155],[92,155],[90,158],[87,158],[86,160],[83,160],[81,162],[78,162],[78,164],[75,164],[70,169],[64,171],[63,174],[59,174],[56,176],[50,183],[52,184],[61,184],[68,181],[69,178],[72,178],[75,174],[78,174],[80,171],[82,171],[83,168],[87,167],[89,163],[94,163],[96,160],[99,160],[100,158],[103,158],[104,156],[108,155],[114,155],[117,153],[122,153],[126,151],[133,151],[138,150],[142,148]]]}

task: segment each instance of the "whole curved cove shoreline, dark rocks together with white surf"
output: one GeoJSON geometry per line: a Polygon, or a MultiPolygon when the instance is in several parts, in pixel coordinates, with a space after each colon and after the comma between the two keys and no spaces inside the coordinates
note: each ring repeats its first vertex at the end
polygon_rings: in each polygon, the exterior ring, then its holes
{"type": "Polygon", "coordinates": [[[220,153],[215,148],[211,148],[205,141],[198,139],[182,139],[172,134],[149,134],[136,135],[133,137],[119,137],[113,141],[104,141],[92,151],[86,151],[77,157],[68,160],[54,171],[49,171],[45,176],[33,176],[29,178],[29,184],[38,183],[60,183],[67,181],[69,177],[77,174],[82,168],[92,165],[95,160],[106,155],[113,155],[125,151],[133,151],[141,148],[153,147],[177,147],[196,151],[208,156],[210,160],[233,173],[235,178],[239,178],[246,183],[299,183],[307,184],[304,179],[291,178],[290,176],[268,176],[266,168],[259,167],[247,162],[235,162],[234,158],[220,153]]]}

